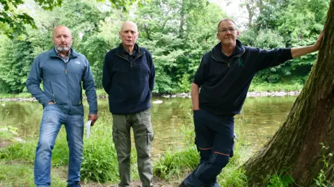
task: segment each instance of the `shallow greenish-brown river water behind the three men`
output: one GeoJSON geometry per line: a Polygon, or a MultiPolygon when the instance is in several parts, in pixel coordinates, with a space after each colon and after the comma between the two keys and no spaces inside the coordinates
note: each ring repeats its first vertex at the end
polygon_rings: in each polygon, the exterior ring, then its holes
{"type": "MultiPolygon", "coordinates": [[[[292,108],[296,97],[257,97],[247,98],[240,115],[235,116],[239,133],[254,147],[260,147],[273,136],[281,122],[292,108]]],[[[191,99],[189,98],[160,98],[162,104],[152,104],[152,124],[154,142],[152,152],[158,154],[166,149],[183,148],[182,125],[189,125],[191,99]]],[[[86,101],[85,101],[85,105],[86,101]]],[[[108,100],[99,99],[100,117],[110,117],[108,100]]],[[[86,113],[88,106],[86,106],[86,113]]],[[[42,106],[35,101],[7,101],[0,105],[0,128],[11,125],[19,128],[19,136],[38,136],[42,106]]],[[[98,125],[98,121],[97,124],[98,125]]],[[[132,136],[133,137],[133,136],[132,136]]]]}

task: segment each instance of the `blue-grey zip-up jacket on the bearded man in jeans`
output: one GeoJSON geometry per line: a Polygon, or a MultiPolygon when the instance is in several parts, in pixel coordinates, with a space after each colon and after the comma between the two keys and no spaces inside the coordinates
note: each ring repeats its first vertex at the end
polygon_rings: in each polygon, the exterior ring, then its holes
{"type": "Polygon", "coordinates": [[[35,58],[26,88],[43,107],[49,101],[68,115],[84,115],[82,86],[86,90],[89,113],[97,114],[97,96],[92,71],[86,57],[71,49],[67,63],[57,56],[55,49],[45,51],[35,58]],[[43,90],[40,83],[43,81],[43,90]]]}

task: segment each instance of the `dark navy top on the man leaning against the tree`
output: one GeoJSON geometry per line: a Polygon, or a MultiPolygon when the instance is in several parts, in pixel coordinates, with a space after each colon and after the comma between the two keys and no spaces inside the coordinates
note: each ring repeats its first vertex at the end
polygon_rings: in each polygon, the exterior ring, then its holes
{"type": "Polygon", "coordinates": [[[245,47],[237,40],[231,56],[221,43],[202,57],[193,83],[200,87],[200,108],[216,114],[238,114],[256,72],[292,59],[291,49],[245,47]]]}

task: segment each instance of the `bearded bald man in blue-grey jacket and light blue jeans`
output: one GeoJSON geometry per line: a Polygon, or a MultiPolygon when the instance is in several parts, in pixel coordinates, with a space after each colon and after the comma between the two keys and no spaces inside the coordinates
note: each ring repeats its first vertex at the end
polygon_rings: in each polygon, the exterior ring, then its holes
{"type": "Polygon", "coordinates": [[[65,26],[57,26],[52,34],[54,48],[33,61],[26,88],[43,106],[40,138],[35,154],[34,179],[36,186],[51,184],[51,154],[61,125],[65,124],[70,149],[67,186],[80,186],[83,156],[84,105],[81,82],[89,104],[91,125],[97,120],[97,96],[93,74],[86,57],[75,52],[72,34],[65,26]],[[40,83],[43,82],[43,90],[40,83]]]}

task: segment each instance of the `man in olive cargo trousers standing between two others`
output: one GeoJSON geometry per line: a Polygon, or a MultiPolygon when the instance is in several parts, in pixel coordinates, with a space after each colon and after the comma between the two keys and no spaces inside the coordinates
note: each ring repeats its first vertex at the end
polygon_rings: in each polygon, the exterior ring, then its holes
{"type": "Polygon", "coordinates": [[[130,129],[134,131],[138,172],[143,187],[152,186],[151,145],[153,131],[150,98],[155,70],[150,52],[136,44],[138,29],[134,22],[122,24],[122,43],[111,49],[104,60],[102,84],[109,95],[109,111],[113,115],[120,183],[130,185],[130,129]]]}

